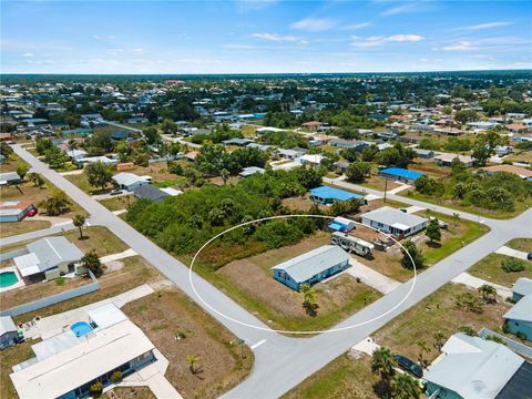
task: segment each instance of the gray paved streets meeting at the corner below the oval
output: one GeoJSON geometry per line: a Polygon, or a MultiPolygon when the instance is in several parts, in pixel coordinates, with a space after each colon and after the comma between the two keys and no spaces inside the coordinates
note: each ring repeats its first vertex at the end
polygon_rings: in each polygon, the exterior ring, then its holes
{"type": "MultiPolygon", "coordinates": [[[[121,237],[131,248],[144,256],[168,279],[174,282],[181,289],[197,301],[188,283],[188,269],[150,239],[137,233],[125,222],[113,215],[101,204],[92,200],[68,180],[48,168],[42,162],[18,145],[13,146],[16,153],[27,161],[35,172],[43,174],[53,184],[64,190],[71,197],[91,214],[93,224],[100,224],[110,228],[121,237]]],[[[367,190],[367,192],[372,192],[367,190]]],[[[378,192],[377,192],[378,193],[378,192]]],[[[398,197],[399,201],[411,205],[432,208],[432,204],[426,204],[410,198],[398,197]]],[[[438,212],[452,214],[443,207],[436,207],[438,212]]],[[[478,219],[478,216],[459,212],[462,218],[478,219]]],[[[272,331],[262,331],[244,327],[219,316],[213,309],[205,307],[215,318],[221,320],[229,330],[246,340],[254,347],[255,367],[243,383],[227,392],[226,398],[276,398],[288,391],[306,377],[323,368],[327,362],[345,352],[352,345],[371,335],[386,323],[416,305],[424,297],[466,272],[471,265],[485,255],[499,248],[505,242],[516,237],[532,237],[532,209],[510,221],[485,219],[491,231],[471,243],[467,247],[456,252],[446,259],[422,273],[407,300],[396,307],[412,287],[412,280],[402,284],[385,297],[367,306],[361,311],[342,321],[337,328],[364,323],[354,329],[339,332],[321,334],[313,338],[288,338],[272,331]],[[377,318],[379,315],[383,315],[377,318]],[[376,319],[377,318],[377,319],[376,319]],[[372,320],[372,321],[368,321],[372,320]]],[[[215,304],[216,309],[242,321],[255,326],[265,327],[256,317],[247,313],[231,298],[217,290],[206,280],[195,277],[195,285],[200,294],[209,304],[215,304]]]]}

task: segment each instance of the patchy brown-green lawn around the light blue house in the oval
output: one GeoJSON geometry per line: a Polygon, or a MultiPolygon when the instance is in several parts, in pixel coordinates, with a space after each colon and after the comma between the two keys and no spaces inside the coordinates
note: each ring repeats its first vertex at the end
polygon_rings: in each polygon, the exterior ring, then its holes
{"type": "Polygon", "coordinates": [[[329,239],[328,234],[318,232],[296,245],[231,262],[217,272],[201,264],[196,270],[273,328],[321,330],[361,309],[366,303],[378,299],[380,294],[357,283],[350,275],[337,276],[314,286],[318,310],[313,317],[301,306],[303,294],[274,280],[270,268],[328,244],[329,239]]]}

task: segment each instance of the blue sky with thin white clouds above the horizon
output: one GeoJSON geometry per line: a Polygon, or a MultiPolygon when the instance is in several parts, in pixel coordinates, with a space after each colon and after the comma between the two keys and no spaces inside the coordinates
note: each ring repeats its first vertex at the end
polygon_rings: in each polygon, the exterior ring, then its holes
{"type": "Polygon", "coordinates": [[[2,73],[532,68],[529,1],[4,1],[2,73]]]}

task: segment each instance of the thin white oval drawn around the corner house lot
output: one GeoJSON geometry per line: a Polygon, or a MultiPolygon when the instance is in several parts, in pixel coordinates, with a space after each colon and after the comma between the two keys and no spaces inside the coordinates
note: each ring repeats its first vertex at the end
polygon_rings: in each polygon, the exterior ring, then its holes
{"type": "MultiPolygon", "coordinates": [[[[194,255],[194,257],[192,258],[192,262],[191,262],[191,266],[188,267],[188,282],[191,283],[191,286],[192,286],[192,290],[194,291],[194,294],[197,296],[197,298],[206,306],[208,307],[211,310],[213,310],[214,313],[216,313],[217,315],[226,318],[227,320],[231,320],[233,323],[236,323],[236,324],[239,324],[241,326],[244,326],[244,327],[249,327],[249,328],[255,328],[255,329],[258,329],[258,330],[263,330],[263,331],[268,331],[268,332],[277,332],[277,334],[289,334],[289,335],[317,335],[317,334],[326,334],[326,332],[340,332],[340,331],[345,331],[345,330],[349,330],[349,329],[352,329],[352,328],[357,328],[357,327],[361,327],[364,325],[367,325],[369,323],[374,323],[382,317],[385,317],[386,315],[392,313],[393,310],[396,310],[399,306],[401,306],[410,296],[410,294],[412,294],[412,290],[413,290],[413,287],[416,287],[416,280],[417,280],[417,276],[418,276],[418,270],[416,268],[416,263],[413,262],[413,258],[412,256],[410,255],[410,253],[407,250],[407,248],[405,248],[405,246],[402,246],[401,243],[399,243],[396,238],[393,238],[391,235],[389,234],[386,234],[386,233],[382,233],[381,231],[375,228],[375,227],[371,227],[371,226],[366,226],[359,222],[355,222],[355,224],[357,225],[360,225],[360,226],[364,226],[364,227],[368,227],[368,228],[371,228],[372,231],[377,232],[377,233],[380,233],[385,236],[387,236],[388,238],[391,238],[395,243],[399,244],[399,246],[402,248],[402,250],[405,250],[405,253],[407,253],[408,257],[410,258],[410,260],[412,262],[412,265],[413,265],[413,278],[412,278],[412,285],[410,287],[410,289],[408,290],[407,295],[405,296],[405,298],[402,298],[396,306],[393,306],[391,309],[388,309],[387,311],[385,311],[383,314],[379,315],[379,316],[376,316],[369,320],[366,320],[366,321],[360,321],[360,323],[357,323],[352,326],[347,326],[347,327],[340,327],[340,328],[329,328],[329,329],[325,329],[325,330],[309,330],[309,331],[293,331],[293,330],[280,330],[280,329],[274,329],[274,328],[266,328],[266,327],[260,327],[260,326],[254,326],[254,325],[250,325],[250,324],[247,324],[247,323],[244,323],[244,321],[241,321],[241,320],[237,320],[237,319],[234,319],[233,317],[231,316],[227,316],[218,310],[216,310],[214,307],[212,307],[208,303],[206,303],[203,297],[197,293],[196,290],[196,287],[194,286],[194,282],[193,282],[193,274],[192,274],[192,268],[194,266],[194,262],[196,260],[196,257],[200,255],[200,253],[208,245],[211,244],[213,241],[215,241],[216,238],[218,238],[219,236],[223,236],[225,233],[228,233],[228,232],[232,232],[236,228],[239,228],[239,227],[243,227],[243,226],[246,226],[248,224],[254,224],[254,223],[257,223],[257,222],[265,222],[265,221],[273,221],[273,219],[279,219],[279,218],[290,218],[290,217],[317,217],[317,218],[326,218],[326,219],[334,219],[335,217],[334,216],[325,216],[325,215],[277,215],[277,216],[270,216],[270,217],[263,217],[263,218],[259,218],[259,219],[255,219],[255,221],[250,221],[250,222],[245,222],[245,223],[241,223],[239,225],[236,225],[236,226],[233,226],[233,227],[229,227],[225,231],[223,231],[222,233],[218,233],[216,234],[214,237],[212,237],[209,241],[207,241],[205,244],[203,244],[203,246],[196,252],[196,254],[194,255]]],[[[407,282],[408,283],[408,282],[407,282]]],[[[403,283],[403,284],[407,284],[407,283],[403,283]]],[[[212,284],[212,283],[209,283],[212,284]]],[[[216,289],[217,287],[215,285],[213,285],[216,289]]],[[[388,295],[388,294],[387,294],[388,295]]],[[[386,295],[385,295],[386,296],[386,295]]],[[[241,304],[238,304],[238,301],[236,301],[235,299],[231,298],[231,300],[234,300],[238,306],[242,307],[241,304]]],[[[378,299],[377,299],[378,300],[378,299]]],[[[249,310],[247,310],[245,307],[243,307],[245,309],[245,311],[249,313],[249,310]]],[[[360,309],[361,310],[361,309],[360,309]]],[[[357,310],[360,311],[360,310],[357,310]]],[[[355,313],[356,314],[356,313],[355,313]]],[[[352,315],[355,315],[352,314],[352,315]]],[[[350,315],[349,317],[351,317],[352,315],[350,315]]],[[[339,321],[339,323],[342,323],[342,321],[339,321]]]]}

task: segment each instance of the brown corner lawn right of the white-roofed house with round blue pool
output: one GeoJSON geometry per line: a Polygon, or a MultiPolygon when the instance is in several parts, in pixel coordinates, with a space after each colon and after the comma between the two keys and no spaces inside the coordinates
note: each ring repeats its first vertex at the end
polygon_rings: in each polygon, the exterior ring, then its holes
{"type": "Polygon", "coordinates": [[[245,346],[241,357],[237,337],[178,290],[149,295],[123,311],[170,360],[166,378],[184,398],[217,398],[252,370],[252,350],[245,346]],[[201,358],[195,375],[187,355],[201,358]]]}

